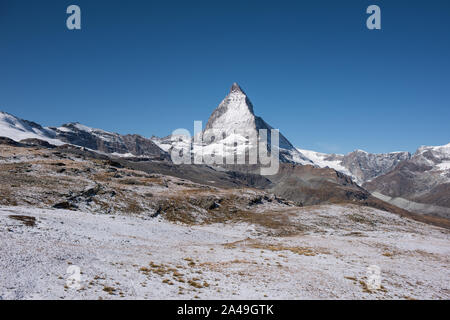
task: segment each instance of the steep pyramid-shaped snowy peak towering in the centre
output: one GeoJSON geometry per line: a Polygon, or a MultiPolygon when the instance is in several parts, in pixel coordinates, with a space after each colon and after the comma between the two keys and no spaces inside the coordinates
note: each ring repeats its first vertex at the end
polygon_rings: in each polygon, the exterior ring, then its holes
{"type": "MultiPolygon", "coordinates": [[[[246,147],[252,147],[254,141],[250,137],[259,138],[264,130],[267,133],[267,151],[270,152],[272,129],[261,117],[255,115],[247,94],[237,83],[233,83],[230,92],[213,111],[206,124],[203,131],[203,153],[217,154],[218,150],[223,151],[223,155],[244,152],[246,147]]],[[[312,163],[281,133],[279,156],[282,162],[312,163]]]]}

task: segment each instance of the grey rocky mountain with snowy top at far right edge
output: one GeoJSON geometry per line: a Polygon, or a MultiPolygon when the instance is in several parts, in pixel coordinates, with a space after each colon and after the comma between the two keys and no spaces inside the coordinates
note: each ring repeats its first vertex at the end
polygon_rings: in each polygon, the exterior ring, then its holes
{"type": "Polygon", "coordinates": [[[399,207],[450,218],[450,144],[420,147],[364,188],[399,207]]]}

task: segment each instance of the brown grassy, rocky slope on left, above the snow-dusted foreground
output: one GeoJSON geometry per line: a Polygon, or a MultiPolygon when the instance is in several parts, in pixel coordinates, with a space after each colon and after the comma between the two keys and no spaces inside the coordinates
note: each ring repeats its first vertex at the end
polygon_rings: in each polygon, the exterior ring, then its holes
{"type": "Polygon", "coordinates": [[[183,168],[164,162],[126,162],[79,148],[0,145],[0,204],[82,210],[106,214],[164,214],[175,220],[214,219],[260,203],[289,206],[261,189],[252,175],[188,170],[197,180],[177,178],[183,168]],[[124,165],[121,164],[124,163],[124,165]],[[143,168],[135,170],[133,166],[143,168]],[[157,169],[156,172],[154,169],[157,169]],[[170,172],[170,168],[178,171],[170,172]],[[215,181],[215,180],[216,181],[215,181]],[[209,185],[208,185],[209,184],[209,185]],[[216,186],[215,186],[216,185],[216,186]]]}

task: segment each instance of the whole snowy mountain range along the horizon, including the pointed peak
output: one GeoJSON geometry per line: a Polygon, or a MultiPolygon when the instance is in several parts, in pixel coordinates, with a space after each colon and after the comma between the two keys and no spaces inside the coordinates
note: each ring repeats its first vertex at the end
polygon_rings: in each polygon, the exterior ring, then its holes
{"type": "MultiPolygon", "coordinates": [[[[211,114],[202,132],[205,139],[200,147],[203,153],[222,150],[236,155],[242,152],[242,145],[250,143],[241,132],[247,130],[258,135],[260,129],[270,130],[272,127],[255,115],[250,99],[234,83],[229,94],[211,114]]],[[[270,136],[270,131],[268,134],[270,136]]],[[[167,162],[170,162],[169,153],[174,147],[192,142],[183,136],[145,138],[136,134],[120,135],[79,123],[42,127],[6,112],[0,112],[0,137],[28,143],[46,141],[55,146],[70,144],[115,157],[167,162]]],[[[270,152],[270,146],[268,148],[270,152]]],[[[303,204],[314,204],[316,201],[312,199],[316,198],[317,201],[329,201],[336,196],[336,190],[355,184],[358,188],[362,187],[362,191],[351,187],[352,192],[369,191],[395,206],[420,214],[450,218],[450,143],[445,146],[423,146],[413,155],[408,152],[371,154],[362,150],[340,155],[295,148],[280,133],[279,151],[283,174],[268,178],[275,184],[274,190],[293,200],[300,199],[303,204]],[[333,172],[337,172],[337,176],[335,174],[333,177],[333,172]],[[318,196],[320,190],[323,194],[318,196]]],[[[245,166],[235,166],[233,170],[255,173],[245,166]]],[[[348,190],[338,192],[339,197],[346,192],[348,190]]]]}

